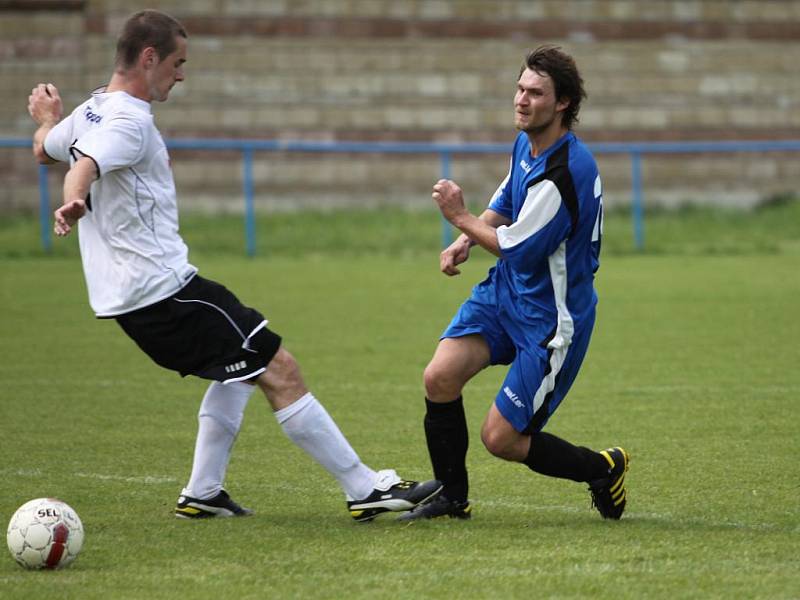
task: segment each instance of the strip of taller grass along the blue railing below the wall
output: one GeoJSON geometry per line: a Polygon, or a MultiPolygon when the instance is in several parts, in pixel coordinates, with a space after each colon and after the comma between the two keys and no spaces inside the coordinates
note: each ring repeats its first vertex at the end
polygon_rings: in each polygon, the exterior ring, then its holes
{"type": "MultiPolygon", "coordinates": [[[[481,207],[472,207],[479,212],[481,207]]],[[[609,211],[603,253],[741,255],[800,253],[800,198],[773,201],[751,211],[685,207],[652,210],[644,217],[644,251],[634,247],[627,210],[609,211]]],[[[244,218],[184,213],[181,231],[194,252],[243,255],[244,218]]],[[[340,209],[331,212],[259,214],[257,253],[430,255],[442,240],[442,222],[433,210],[398,208],[340,209]]],[[[74,239],[55,240],[53,255],[77,256],[74,239]]],[[[39,223],[29,215],[7,216],[0,222],[0,256],[43,255],[39,223]]]]}

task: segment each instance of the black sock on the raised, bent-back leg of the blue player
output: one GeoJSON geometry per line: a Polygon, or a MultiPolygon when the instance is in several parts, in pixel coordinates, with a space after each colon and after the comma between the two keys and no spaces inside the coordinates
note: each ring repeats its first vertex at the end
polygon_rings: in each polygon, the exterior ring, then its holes
{"type": "Polygon", "coordinates": [[[542,475],[573,481],[592,481],[608,474],[608,462],[600,453],[544,431],[531,435],[531,448],[523,462],[542,475]]]}

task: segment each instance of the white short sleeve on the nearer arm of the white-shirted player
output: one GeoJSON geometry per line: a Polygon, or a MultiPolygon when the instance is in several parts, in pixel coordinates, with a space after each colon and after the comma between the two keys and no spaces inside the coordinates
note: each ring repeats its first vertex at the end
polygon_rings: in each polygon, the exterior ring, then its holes
{"type": "Polygon", "coordinates": [[[144,155],[145,128],[126,116],[119,116],[87,131],[72,147],[94,160],[102,177],[110,171],[137,164],[144,155]]]}

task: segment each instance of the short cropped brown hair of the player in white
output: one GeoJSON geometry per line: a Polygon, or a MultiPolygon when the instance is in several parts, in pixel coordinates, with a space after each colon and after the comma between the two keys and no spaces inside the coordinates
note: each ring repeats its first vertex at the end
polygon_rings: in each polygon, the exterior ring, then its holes
{"type": "Polygon", "coordinates": [[[186,30],[166,13],[147,9],[132,15],[122,27],[117,40],[116,65],[128,69],[145,48],[154,48],[159,60],[175,52],[177,36],[188,38],[186,30]]]}

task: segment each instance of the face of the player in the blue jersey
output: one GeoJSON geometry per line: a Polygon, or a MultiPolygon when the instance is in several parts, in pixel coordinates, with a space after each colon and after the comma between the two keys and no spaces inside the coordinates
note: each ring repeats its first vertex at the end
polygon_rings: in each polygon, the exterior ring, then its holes
{"type": "Polygon", "coordinates": [[[514,124],[526,133],[539,133],[550,127],[569,105],[558,102],[553,80],[546,73],[525,69],[517,81],[514,95],[514,124]]]}

